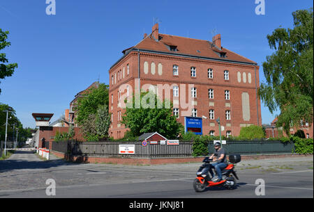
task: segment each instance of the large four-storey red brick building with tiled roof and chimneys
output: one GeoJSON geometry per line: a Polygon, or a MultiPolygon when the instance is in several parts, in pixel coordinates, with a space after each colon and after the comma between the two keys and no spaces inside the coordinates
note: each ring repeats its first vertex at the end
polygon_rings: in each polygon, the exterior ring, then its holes
{"type": "Polygon", "coordinates": [[[122,53],[109,70],[113,138],[123,138],[128,130],[121,124],[124,97],[139,88],[160,95],[157,85],[164,88],[163,99],[173,102],[179,122],[184,124],[184,116],[204,117],[203,134],[219,134],[218,117],[225,136],[238,136],[241,127],[262,124],[259,66],[222,47],[220,35],[212,42],[165,35],[155,24],[151,34],[122,53]]]}

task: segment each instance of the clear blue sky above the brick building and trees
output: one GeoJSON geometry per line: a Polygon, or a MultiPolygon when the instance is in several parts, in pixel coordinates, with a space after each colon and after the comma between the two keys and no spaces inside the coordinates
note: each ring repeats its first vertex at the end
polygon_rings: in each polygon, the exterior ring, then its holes
{"type": "MultiPolygon", "coordinates": [[[[272,53],[267,34],[292,28],[292,12],[313,1],[265,0],[265,15],[255,14],[255,0],[103,1],[56,0],[56,15],[46,15],[45,0],[0,0],[0,28],[9,31],[7,54],[19,67],[1,80],[0,102],[9,104],[24,127],[35,127],[31,113],[54,113],[57,120],[77,92],[97,81],[109,83],[109,68],[121,51],[151,33],[211,40],[216,28],[223,47],[262,63],[272,53]]],[[[262,103],[262,123],[271,115],[262,103]]]]}

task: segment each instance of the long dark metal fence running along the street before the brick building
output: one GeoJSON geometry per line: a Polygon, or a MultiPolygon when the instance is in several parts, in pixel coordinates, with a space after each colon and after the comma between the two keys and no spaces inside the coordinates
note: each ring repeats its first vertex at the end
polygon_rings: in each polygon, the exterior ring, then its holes
{"type": "MultiPolygon", "coordinates": [[[[205,142],[208,152],[214,152],[214,142],[205,142]]],[[[227,141],[223,145],[227,154],[291,154],[294,152],[294,143],[281,141],[227,141]]],[[[167,158],[193,156],[193,141],[180,141],[179,145],[147,144],[142,142],[106,141],[106,142],[52,142],[52,150],[63,152],[68,156],[107,156],[107,157],[130,157],[130,158],[167,158]],[[132,145],[133,154],[121,154],[120,145],[132,145]]]]}

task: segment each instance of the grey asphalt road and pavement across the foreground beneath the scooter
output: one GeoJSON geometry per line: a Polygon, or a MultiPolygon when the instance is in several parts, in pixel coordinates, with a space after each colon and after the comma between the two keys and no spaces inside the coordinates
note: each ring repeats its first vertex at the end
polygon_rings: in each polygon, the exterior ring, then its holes
{"type": "Polygon", "coordinates": [[[55,157],[41,161],[31,152],[16,152],[0,161],[0,198],[313,198],[313,156],[241,161],[236,166],[236,189],[214,187],[195,193],[193,179],[199,166],[77,164],[55,157]],[[262,189],[264,193],[255,193],[262,189]]]}

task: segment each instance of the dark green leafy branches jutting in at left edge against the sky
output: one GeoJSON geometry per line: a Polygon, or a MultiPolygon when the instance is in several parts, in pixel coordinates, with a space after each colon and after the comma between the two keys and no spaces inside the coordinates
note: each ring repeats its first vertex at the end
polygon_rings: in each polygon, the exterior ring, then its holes
{"type": "MultiPolygon", "coordinates": [[[[10,42],[6,41],[8,38],[8,31],[2,31],[0,28],[0,50],[10,46],[10,42]]],[[[15,68],[17,68],[17,63],[8,63],[6,54],[0,53],[0,79],[5,79],[7,76],[12,76],[15,68]]],[[[0,88],[1,93],[1,88],[0,88]]]]}

